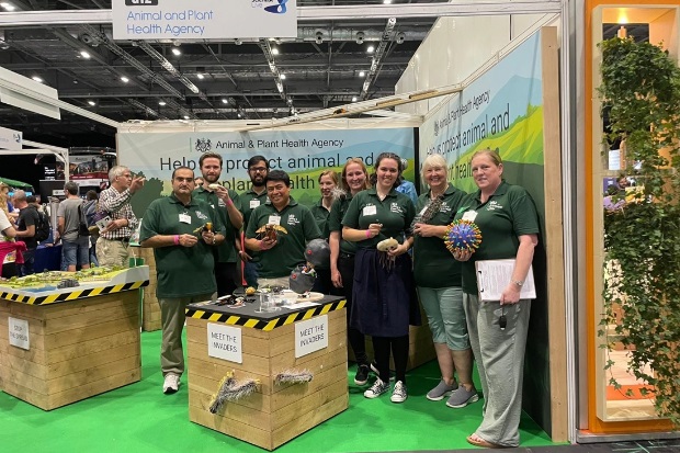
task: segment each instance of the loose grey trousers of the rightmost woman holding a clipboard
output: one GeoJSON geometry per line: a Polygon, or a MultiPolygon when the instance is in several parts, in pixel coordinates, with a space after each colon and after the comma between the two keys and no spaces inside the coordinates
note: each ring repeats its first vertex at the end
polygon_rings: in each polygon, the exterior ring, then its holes
{"type": "Polygon", "coordinates": [[[464,294],[463,305],[484,392],[484,419],[475,432],[485,441],[518,446],[531,301],[503,306],[505,330],[498,325],[499,302],[479,302],[477,296],[464,294]]]}

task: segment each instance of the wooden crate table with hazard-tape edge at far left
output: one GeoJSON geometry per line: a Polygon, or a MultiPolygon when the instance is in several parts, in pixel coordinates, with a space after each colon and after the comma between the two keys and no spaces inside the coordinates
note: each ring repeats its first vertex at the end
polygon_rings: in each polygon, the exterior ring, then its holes
{"type": "Polygon", "coordinates": [[[149,269],[80,286],[0,285],[0,389],[45,410],[139,381],[139,287],[149,269]]]}

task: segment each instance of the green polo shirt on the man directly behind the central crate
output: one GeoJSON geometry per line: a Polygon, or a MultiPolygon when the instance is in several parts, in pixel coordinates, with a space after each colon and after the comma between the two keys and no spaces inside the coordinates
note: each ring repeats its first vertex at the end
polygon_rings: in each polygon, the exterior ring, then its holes
{"type": "Polygon", "coordinates": [[[311,211],[298,204],[293,197],[281,211],[277,211],[271,202],[256,207],[250,215],[246,237],[254,238],[258,228],[272,224],[270,219],[275,217],[279,218],[279,225],[285,228],[287,234],[280,231],[276,245],[258,253],[260,257],[258,272],[263,279],[290,275],[297,264],[305,262],[307,242],[321,237],[311,211]]]}

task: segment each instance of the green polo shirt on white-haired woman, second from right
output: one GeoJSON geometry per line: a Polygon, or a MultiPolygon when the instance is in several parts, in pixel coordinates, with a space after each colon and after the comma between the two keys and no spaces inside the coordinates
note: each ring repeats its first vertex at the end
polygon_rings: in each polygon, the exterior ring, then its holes
{"type": "MultiPolygon", "coordinates": [[[[427,224],[451,224],[466,195],[467,193],[449,184],[439,212],[427,224]]],[[[422,213],[429,201],[430,191],[420,195],[416,212],[422,213]]],[[[461,286],[461,263],[453,259],[442,237],[413,236],[413,278],[416,285],[422,287],[461,286]]]]}

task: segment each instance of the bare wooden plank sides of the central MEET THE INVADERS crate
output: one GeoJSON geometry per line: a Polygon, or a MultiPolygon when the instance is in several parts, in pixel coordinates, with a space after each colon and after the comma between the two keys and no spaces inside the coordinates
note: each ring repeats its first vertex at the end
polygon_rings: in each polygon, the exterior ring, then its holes
{"type": "Polygon", "coordinates": [[[207,355],[207,324],[186,319],[191,421],[271,451],[348,408],[344,309],[328,314],[328,348],[298,359],[294,324],[269,332],[241,327],[242,363],[207,355]],[[314,378],[275,385],[275,375],[286,369],[307,369],[314,378]],[[257,378],[261,384],[250,397],[226,403],[213,415],[212,397],[231,371],[237,380],[257,378]]]}

